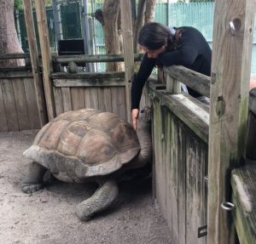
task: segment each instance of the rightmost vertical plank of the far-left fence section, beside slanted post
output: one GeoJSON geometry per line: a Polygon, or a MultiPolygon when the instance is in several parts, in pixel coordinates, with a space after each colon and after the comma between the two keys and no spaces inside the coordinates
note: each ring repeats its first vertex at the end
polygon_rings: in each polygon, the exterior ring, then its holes
{"type": "Polygon", "coordinates": [[[41,128],[41,124],[38,116],[38,105],[36,102],[36,93],[32,78],[27,79],[24,82],[25,94],[26,94],[26,105],[28,111],[28,118],[31,129],[41,128]]]}

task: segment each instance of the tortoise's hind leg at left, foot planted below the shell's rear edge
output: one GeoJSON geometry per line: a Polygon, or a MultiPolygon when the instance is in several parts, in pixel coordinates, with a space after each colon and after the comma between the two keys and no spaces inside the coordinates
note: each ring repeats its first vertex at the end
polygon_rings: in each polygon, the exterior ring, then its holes
{"type": "Polygon", "coordinates": [[[38,162],[32,162],[26,177],[21,182],[21,190],[25,193],[33,193],[42,189],[46,171],[46,167],[43,167],[38,162]]]}

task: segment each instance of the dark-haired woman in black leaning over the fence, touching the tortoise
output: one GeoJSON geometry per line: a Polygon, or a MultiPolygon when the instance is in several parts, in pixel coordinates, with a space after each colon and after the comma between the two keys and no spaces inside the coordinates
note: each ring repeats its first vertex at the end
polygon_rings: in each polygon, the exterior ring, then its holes
{"type": "MultiPolygon", "coordinates": [[[[212,50],[206,39],[193,27],[170,28],[151,22],[142,27],[138,43],[145,55],[131,85],[131,116],[135,129],[143,86],[155,65],[183,65],[211,76],[212,60],[212,50]]],[[[201,96],[191,88],[188,90],[194,97],[201,96]]]]}

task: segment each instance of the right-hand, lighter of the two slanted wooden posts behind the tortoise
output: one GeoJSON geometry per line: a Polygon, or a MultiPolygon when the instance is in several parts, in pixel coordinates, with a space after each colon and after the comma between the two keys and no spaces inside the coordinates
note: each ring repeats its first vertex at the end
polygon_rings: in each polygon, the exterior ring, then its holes
{"type": "Polygon", "coordinates": [[[53,96],[52,82],[49,78],[49,74],[52,72],[52,62],[49,47],[49,31],[47,26],[44,1],[35,1],[35,7],[38,19],[38,33],[43,63],[44,94],[46,100],[48,119],[50,121],[55,117],[55,102],[53,96]]]}

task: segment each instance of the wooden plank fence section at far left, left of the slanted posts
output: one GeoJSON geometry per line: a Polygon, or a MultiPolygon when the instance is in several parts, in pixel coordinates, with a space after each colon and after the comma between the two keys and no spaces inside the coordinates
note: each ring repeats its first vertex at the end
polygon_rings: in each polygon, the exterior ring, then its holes
{"type": "Polygon", "coordinates": [[[0,132],[41,128],[32,71],[0,70],[0,132]]]}

